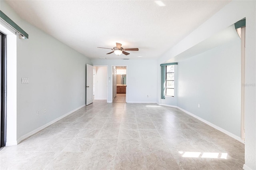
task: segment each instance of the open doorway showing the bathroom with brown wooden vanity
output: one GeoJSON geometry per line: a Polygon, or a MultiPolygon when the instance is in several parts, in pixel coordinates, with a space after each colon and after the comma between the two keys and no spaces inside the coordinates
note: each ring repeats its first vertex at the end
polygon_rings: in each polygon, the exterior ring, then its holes
{"type": "Polygon", "coordinates": [[[127,89],[126,66],[113,66],[113,70],[114,70],[113,103],[126,103],[126,89],[127,89]]]}

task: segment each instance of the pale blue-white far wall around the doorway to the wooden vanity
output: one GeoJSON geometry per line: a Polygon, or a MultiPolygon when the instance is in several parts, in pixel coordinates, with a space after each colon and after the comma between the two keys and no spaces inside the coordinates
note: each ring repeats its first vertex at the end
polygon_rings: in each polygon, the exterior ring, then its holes
{"type": "MultiPolygon", "coordinates": [[[[127,102],[156,103],[156,60],[93,59],[92,63],[94,65],[108,65],[109,68],[112,68],[112,65],[126,65],[127,102]]],[[[109,77],[108,102],[112,102],[112,69],[108,69],[109,77]]]]}

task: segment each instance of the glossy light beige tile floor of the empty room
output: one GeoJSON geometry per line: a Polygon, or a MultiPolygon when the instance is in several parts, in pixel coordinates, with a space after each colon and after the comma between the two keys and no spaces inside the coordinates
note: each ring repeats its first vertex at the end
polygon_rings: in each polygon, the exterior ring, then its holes
{"type": "Polygon", "coordinates": [[[94,101],[17,146],[0,169],[242,169],[244,144],[171,107],[94,101]]]}

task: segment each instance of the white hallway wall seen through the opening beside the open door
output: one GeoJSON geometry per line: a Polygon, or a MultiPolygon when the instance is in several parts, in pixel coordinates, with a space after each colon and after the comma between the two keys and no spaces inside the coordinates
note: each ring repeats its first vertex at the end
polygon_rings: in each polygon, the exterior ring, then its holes
{"type": "Polygon", "coordinates": [[[107,66],[95,66],[94,75],[94,99],[95,100],[106,100],[108,90],[108,68],[107,66]]]}

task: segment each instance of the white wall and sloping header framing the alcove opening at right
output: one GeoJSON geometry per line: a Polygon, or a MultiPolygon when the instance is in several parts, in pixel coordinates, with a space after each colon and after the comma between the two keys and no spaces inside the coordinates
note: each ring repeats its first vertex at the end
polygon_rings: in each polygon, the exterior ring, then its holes
{"type": "MultiPolygon", "coordinates": [[[[231,1],[191,34],[169,49],[157,65],[210,38],[213,34],[246,18],[245,49],[245,165],[256,169],[256,1],[231,1]]],[[[160,94],[160,67],[157,69],[157,94],[160,94]]],[[[160,103],[160,95],[158,95],[160,103]]],[[[161,103],[160,103],[161,104],[161,103]]]]}

